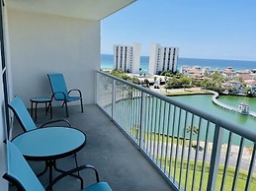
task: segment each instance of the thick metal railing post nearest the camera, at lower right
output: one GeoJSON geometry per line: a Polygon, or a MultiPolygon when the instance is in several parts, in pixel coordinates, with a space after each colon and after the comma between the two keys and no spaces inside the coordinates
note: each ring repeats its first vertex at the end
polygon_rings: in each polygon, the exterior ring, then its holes
{"type": "Polygon", "coordinates": [[[223,128],[218,124],[215,125],[214,137],[213,137],[213,151],[210,163],[210,171],[208,178],[208,191],[215,190],[215,183],[217,178],[218,164],[221,154],[221,146],[223,139],[223,128]]]}

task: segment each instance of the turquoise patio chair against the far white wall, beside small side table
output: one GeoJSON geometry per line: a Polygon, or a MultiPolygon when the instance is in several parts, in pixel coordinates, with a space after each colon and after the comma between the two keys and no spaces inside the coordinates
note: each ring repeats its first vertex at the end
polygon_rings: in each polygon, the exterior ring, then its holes
{"type": "Polygon", "coordinates": [[[80,100],[81,111],[83,112],[83,98],[80,90],[72,89],[67,91],[66,83],[62,74],[47,74],[51,87],[52,98],[63,101],[62,106],[65,105],[66,116],[68,117],[67,102],[80,100]],[[70,96],[70,93],[76,92],[79,96],[70,96]]]}

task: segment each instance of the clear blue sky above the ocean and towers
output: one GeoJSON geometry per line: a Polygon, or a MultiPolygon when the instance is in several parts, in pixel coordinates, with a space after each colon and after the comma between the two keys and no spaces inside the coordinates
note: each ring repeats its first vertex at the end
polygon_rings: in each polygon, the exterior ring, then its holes
{"type": "Polygon", "coordinates": [[[101,21],[101,52],[114,44],[179,47],[179,57],[256,61],[256,0],[137,0],[101,21]]]}

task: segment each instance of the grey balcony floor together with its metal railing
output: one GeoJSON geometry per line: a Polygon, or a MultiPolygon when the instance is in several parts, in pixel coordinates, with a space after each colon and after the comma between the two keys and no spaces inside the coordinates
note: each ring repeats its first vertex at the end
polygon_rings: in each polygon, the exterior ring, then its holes
{"type": "MultiPolygon", "coordinates": [[[[70,106],[68,118],[88,138],[78,162],[95,165],[101,180],[114,190],[252,190],[255,186],[253,130],[102,72],[96,75],[96,104],[84,108],[81,113],[79,106],[70,106]]],[[[39,123],[48,117],[41,112],[39,123]]],[[[53,108],[53,115],[62,118],[65,111],[53,108]]],[[[17,126],[13,136],[21,132],[17,126]]],[[[43,162],[30,163],[36,172],[43,169],[43,162]]],[[[71,168],[74,159],[59,159],[57,165],[71,168]]],[[[93,181],[88,172],[82,175],[93,181]]],[[[46,185],[47,174],[41,181],[46,185]]],[[[67,186],[79,185],[70,177],[55,190],[67,186]]]]}

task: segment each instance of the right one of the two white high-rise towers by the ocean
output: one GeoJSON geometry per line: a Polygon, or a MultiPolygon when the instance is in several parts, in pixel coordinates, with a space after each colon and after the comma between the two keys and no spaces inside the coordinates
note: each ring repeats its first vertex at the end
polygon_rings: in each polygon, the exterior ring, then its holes
{"type": "Polygon", "coordinates": [[[148,73],[160,74],[162,71],[176,72],[178,56],[178,47],[164,47],[158,43],[151,44],[148,73]]]}

